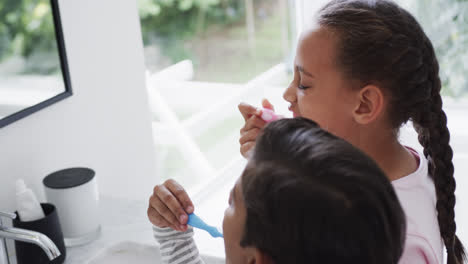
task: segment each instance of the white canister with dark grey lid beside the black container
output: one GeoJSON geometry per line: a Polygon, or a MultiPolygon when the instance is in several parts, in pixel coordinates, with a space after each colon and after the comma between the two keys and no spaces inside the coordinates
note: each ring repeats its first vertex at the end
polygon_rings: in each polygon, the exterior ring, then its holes
{"type": "Polygon", "coordinates": [[[47,201],[57,208],[65,245],[78,246],[96,239],[101,226],[95,172],[64,169],[49,174],[43,183],[47,201]]]}

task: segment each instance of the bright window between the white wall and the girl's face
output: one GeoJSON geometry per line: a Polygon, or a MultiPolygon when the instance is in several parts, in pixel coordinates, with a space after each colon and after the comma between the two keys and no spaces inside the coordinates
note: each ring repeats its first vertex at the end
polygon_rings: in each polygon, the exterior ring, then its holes
{"type": "Polygon", "coordinates": [[[286,110],[295,39],[288,0],[140,0],[158,177],[187,189],[240,174],[237,104],[286,110]],[[237,164],[237,165],[236,165],[237,164]]]}

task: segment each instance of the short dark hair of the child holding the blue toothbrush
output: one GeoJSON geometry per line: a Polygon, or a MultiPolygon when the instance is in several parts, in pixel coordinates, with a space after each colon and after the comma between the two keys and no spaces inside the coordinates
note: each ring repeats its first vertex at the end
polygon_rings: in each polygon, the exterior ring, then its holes
{"type": "Polygon", "coordinates": [[[397,263],[404,212],[377,164],[305,118],[268,124],[242,175],[241,246],[275,264],[397,263]]]}

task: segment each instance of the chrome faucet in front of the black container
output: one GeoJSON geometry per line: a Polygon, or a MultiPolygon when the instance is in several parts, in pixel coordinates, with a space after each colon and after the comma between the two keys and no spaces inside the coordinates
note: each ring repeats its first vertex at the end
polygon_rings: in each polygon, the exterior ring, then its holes
{"type": "MultiPolygon", "coordinates": [[[[50,240],[46,235],[41,234],[36,231],[15,228],[15,227],[6,227],[2,224],[2,217],[8,217],[11,219],[16,218],[16,214],[0,212],[0,239],[3,240],[4,246],[0,248],[0,251],[3,251],[3,256],[6,258],[6,263],[9,263],[8,253],[6,252],[6,243],[5,239],[13,239],[18,241],[23,241],[27,243],[36,244],[44,250],[49,260],[53,260],[60,256],[60,250],[57,246],[50,240]]],[[[1,246],[0,241],[0,246],[1,246]]],[[[2,254],[0,254],[0,257],[2,254]]],[[[0,263],[2,259],[0,259],[0,263]]]]}

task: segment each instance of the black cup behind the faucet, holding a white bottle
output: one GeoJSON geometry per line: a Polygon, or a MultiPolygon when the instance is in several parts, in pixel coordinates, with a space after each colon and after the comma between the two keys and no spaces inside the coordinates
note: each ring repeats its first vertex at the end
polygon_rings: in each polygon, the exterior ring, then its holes
{"type": "Polygon", "coordinates": [[[65,262],[65,242],[63,240],[62,228],[60,226],[57,210],[53,204],[41,203],[41,206],[44,210],[44,218],[35,221],[22,222],[19,220],[18,213],[15,212],[17,217],[16,219],[13,219],[13,226],[46,235],[60,250],[60,256],[54,260],[49,260],[46,253],[38,245],[15,241],[16,259],[18,264],[62,264],[65,262]]]}

